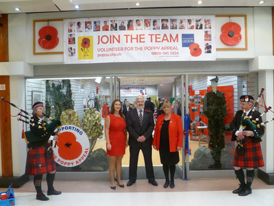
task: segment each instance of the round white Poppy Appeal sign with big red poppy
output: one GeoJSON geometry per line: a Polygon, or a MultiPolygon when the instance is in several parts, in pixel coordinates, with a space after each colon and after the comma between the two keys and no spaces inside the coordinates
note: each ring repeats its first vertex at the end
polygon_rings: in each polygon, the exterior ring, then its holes
{"type": "Polygon", "coordinates": [[[75,167],[86,160],[89,150],[90,142],[84,130],[74,125],[63,125],[56,148],[53,148],[53,157],[62,166],[75,167]]]}

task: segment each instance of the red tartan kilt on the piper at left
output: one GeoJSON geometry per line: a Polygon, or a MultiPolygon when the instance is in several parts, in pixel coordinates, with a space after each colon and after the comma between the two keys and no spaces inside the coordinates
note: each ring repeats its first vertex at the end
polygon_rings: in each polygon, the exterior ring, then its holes
{"type": "Polygon", "coordinates": [[[46,149],[49,148],[49,146],[51,146],[51,144],[44,144],[43,146],[38,146],[27,151],[25,174],[47,174],[53,170],[56,170],[53,157],[51,157],[51,159],[47,159],[46,149]]]}

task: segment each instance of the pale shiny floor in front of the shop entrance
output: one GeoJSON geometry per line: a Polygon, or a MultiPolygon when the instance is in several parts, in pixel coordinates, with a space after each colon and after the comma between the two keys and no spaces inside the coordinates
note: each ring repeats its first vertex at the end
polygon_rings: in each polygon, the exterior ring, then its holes
{"type": "MultiPolygon", "coordinates": [[[[236,179],[191,179],[175,180],[175,188],[163,188],[160,179],[155,187],[146,180],[137,180],[131,187],[110,189],[108,181],[55,181],[59,196],[49,196],[49,201],[36,201],[32,181],[14,189],[15,205],[274,205],[274,185],[267,185],[258,178],[253,181],[253,194],[240,197],[232,194],[238,187],[236,179]]],[[[123,181],[126,185],[127,181],[123,181]]],[[[0,192],[5,191],[0,188],[0,192]]],[[[42,190],[47,191],[47,182],[42,182],[42,190]]]]}

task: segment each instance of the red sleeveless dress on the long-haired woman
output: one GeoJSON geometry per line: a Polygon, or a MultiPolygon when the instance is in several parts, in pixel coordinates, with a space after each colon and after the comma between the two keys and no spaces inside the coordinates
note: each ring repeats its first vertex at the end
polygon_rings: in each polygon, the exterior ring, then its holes
{"type": "Polygon", "coordinates": [[[110,130],[108,135],[110,137],[110,144],[112,145],[112,149],[108,150],[107,148],[107,155],[125,155],[125,121],[123,120],[123,117],[116,117],[113,114],[108,116],[110,117],[110,130]]]}

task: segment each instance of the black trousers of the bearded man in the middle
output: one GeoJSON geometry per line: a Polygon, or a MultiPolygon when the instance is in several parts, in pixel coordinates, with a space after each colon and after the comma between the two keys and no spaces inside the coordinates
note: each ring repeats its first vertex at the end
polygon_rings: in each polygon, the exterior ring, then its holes
{"type": "Polygon", "coordinates": [[[138,157],[139,152],[142,150],[142,154],[144,155],[145,159],[145,169],[146,169],[146,175],[147,179],[149,181],[155,180],[154,177],[154,171],[153,171],[153,165],[152,165],[152,147],[140,147],[140,148],[134,148],[129,146],[129,181],[136,181],[137,179],[137,168],[138,168],[138,157]]]}

